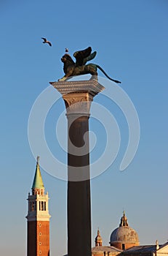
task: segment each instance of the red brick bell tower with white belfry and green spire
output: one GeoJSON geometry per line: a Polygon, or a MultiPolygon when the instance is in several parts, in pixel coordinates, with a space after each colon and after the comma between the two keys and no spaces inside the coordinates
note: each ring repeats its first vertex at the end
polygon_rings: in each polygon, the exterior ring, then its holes
{"type": "Polygon", "coordinates": [[[33,179],[32,192],[28,193],[28,244],[27,256],[49,256],[49,210],[48,192],[44,193],[44,184],[39,168],[39,157],[36,162],[36,173],[33,179]]]}

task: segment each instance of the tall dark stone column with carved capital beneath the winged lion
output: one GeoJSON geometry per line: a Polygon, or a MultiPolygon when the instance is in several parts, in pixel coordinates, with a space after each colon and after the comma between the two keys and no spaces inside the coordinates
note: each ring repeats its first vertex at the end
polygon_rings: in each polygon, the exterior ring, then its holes
{"type": "Polygon", "coordinates": [[[68,256],[91,256],[89,110],[100,91],[97,80],[52,83],[68,118],[68,256]]]}

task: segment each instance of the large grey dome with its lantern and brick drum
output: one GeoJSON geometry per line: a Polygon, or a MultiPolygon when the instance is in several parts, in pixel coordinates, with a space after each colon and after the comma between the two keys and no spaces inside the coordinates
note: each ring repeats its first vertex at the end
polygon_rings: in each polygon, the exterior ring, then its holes
{"type": "Polygon", "coordinates": [[[129,227],[125,212],[123,217],[121,217],[119,227],[111,233],[110,244],[119,249],[128,249],[132,246],[139,245],[137,232],[132,227],[129,227]]]}

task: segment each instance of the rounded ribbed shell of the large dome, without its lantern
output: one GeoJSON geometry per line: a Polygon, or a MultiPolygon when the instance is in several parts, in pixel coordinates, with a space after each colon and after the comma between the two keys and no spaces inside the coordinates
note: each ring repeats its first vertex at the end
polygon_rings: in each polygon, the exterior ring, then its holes
{"type": "Polygon", "coordinates": [[[129,226],[117,227],[111,233],[111,243],[121,242],[121,243],[138,243],[139,238],[135,230],[129,226]]]}

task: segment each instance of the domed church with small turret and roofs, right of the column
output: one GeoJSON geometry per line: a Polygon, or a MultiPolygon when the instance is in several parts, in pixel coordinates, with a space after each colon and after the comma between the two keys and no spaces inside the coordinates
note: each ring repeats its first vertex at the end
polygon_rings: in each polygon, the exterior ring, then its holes
{"type": "Polygon", "coordinates": [[[140,245],[137,232],[129,227],[125,211],[121,217],[119,227],[111,233],[110,246],[103,246],[100,230],[97,230],[95,247],[92,248],[92,256],[166,256],[168,255],[168,242],[159,245],[140,245]]]}

